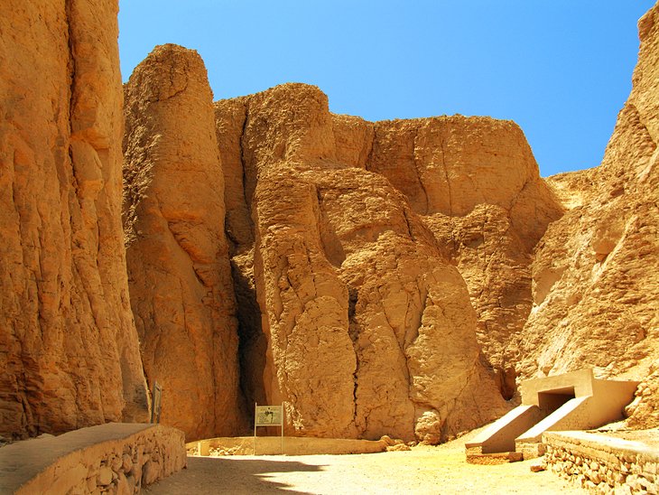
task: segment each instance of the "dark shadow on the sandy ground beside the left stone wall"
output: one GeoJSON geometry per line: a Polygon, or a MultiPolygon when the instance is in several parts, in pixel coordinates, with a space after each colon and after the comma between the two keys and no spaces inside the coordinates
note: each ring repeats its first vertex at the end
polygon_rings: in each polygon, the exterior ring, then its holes
{"type": "Polygon", "coordinates": [[[320,472],[323,466],[269,459],[188,457],[188,468],[144,488],[144,493],[308,493],[292,490],[286,483],[270,480],[275,472],[320,472]]]}

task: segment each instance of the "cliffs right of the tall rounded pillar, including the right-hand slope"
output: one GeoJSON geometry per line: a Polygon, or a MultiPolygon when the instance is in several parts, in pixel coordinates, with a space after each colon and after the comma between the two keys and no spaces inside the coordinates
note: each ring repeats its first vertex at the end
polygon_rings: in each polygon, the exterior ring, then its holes
{"type": "Polygon", "coordinates": [[[371,123],[299,84],[217,102],[247,401],[298,434],[434,442],[519,378],[652,372],[653,16],[604,163],[551,186],[512,122],[371,123]]]}

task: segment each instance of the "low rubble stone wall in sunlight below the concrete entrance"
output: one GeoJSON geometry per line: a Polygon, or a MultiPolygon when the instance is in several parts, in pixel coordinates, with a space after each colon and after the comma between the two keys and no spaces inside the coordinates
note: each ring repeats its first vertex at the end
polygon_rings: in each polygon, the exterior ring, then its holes
{"type": "Polygon", "coordinates": [[[596,493],[659,492],[656,445],[607,434],[543,434],[547,468],[596,493]]]}

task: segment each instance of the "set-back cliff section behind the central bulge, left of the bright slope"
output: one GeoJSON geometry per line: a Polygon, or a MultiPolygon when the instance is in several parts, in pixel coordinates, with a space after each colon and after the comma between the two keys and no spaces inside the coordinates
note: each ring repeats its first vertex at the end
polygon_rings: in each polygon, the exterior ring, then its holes
{"type": "Polygon", "coordinates": [[[511,121],[433,117],[378,122],[367,169],[404,192],[457,263],[478,342],[504,397],[515,392],[515,337],[531,310],[529,265],[562,206],[511,121]]]}

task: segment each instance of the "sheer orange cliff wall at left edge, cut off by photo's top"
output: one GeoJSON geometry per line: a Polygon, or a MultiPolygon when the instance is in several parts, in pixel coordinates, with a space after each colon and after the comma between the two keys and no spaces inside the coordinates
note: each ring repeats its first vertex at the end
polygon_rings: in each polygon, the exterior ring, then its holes
{"type": "Polygon", "coordinates": [[[144,420],[116,0],[8,0],[3,11],[0,434],[144,420]]]}

